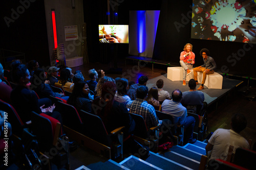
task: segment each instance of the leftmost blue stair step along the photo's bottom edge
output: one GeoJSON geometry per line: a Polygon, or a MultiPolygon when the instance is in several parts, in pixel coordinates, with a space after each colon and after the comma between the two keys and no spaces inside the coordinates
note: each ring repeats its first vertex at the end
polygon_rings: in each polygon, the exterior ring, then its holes
{"type": "MultiPolygon", "coordinates": [[[[105,162],[97,162],[93,163],[87,166],[90,169],[99,169],[99,170],[113,170],[113,169],[124,169],[124,170],[129,170],[129,168],[122,166],[118,164],[117,162],[113,160],[108,160],[105,162]]],[[[82,170],[82,169],[81,169],[82,170]]]]}

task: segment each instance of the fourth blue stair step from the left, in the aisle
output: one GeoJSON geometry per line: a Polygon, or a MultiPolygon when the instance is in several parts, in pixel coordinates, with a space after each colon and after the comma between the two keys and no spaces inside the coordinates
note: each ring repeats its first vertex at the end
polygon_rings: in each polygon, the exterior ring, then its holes
{"type": "Polygon", "coordinates": [[[179,145],[173,146],[169,150],[170,150],[170,152],[175,152],[175,153],[184,155],[185,157],[188,157],[190,159],[196,160],[198,162],[201,161],[202,154],[199,154],[197,152],[193,152],[193,151],[187,150],[186,148],[182,148],[179,145]]]}

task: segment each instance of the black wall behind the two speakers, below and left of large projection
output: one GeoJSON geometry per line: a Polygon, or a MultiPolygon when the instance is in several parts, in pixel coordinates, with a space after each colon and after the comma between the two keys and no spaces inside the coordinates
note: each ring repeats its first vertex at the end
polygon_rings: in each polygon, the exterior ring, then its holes
{"type": "Polygon", "coordinates": [[[191,43],[196,54],[195,66],[203,64],[199,52],[208,48],[217,71],[256,78],[253,62],[256,44],[190,38],[191,5],[192,1],[162,2],[153,58],[179,63],[184,45],[191,43]]]}

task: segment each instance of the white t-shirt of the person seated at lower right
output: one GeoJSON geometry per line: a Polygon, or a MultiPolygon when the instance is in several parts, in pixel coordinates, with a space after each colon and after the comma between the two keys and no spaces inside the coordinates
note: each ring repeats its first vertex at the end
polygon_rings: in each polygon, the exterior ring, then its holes
{"type": "Polygon", "coordinates": [[[229,145],[234,147],[233,153],[240,147],[249,149],[248,141],[231,129],[217,129],[208,142],[214,145],[210,159],[227,160],[229,145]]]}

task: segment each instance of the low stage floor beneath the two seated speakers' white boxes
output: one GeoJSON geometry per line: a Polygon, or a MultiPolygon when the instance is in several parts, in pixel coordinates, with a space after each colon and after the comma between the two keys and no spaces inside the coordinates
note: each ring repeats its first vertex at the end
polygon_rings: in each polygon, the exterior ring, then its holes
{"type": "MultiPolygon", "coordinates": [[[[162,76],[158,76],[156,78],[150,79],[147,81],[146,86],[148,87],[148,90],[150,90],[151,87],[156,87],[156,82],[159,79],[163,79],[164,87],[163,89],[168,91],[170,95],[172,95],[173,90],[180,89],[182,92],[188,91],[188,81],[186,82],[186,86],[182,85],[182,81],[172,81],[167,79],[167,74],[164,74],[162,76]]],[[[224,96],[227,92],[241,84],[243,81],[240,80],[233,80],[233,79],[227,79],[223,78],[222,83],[222,89],[208,89],[206,86],[204,86],[204,89],[201,90],[204,93],[205,102],[207,102],[208,105],[214,104],[219,98],[224,96]]],[[[197,88],[200,86],[197,85],[197,88]]]]}

